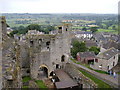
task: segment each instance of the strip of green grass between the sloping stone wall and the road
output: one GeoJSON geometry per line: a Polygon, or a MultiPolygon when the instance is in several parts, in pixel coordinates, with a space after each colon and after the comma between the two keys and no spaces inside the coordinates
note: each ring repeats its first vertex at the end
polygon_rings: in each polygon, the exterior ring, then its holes
{"type": "Polygon", "coordinates": [[[98,88],[111,88],[110,85],[108,85],[107,83],[103,82],[102,80],[90,75],[89,73],[83,71],[83,70],[80,70],[80,72],[82,74],[84,74],[86,77],[90,78],[91,80],[93,80],[97,85],[98,85],[98,88]]]}

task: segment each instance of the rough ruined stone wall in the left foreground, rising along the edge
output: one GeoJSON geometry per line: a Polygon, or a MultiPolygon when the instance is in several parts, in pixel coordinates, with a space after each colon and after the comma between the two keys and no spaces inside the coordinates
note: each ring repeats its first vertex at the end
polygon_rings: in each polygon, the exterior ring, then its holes
{"type": "Polygon", "coordinates": [[[7,24],[5,17],[2,25],[2,88],[20,88],[21,76],[19,66],[18,47],[14,39],[6,34],[7,24]]]}

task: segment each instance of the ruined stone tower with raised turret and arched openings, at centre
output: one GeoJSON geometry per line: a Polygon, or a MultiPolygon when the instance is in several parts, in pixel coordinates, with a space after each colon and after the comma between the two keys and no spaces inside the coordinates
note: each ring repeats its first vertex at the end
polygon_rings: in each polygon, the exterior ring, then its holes
{"type": "Polygon", "coordinates": [[[70,56],[68,26],[59,26],[55,35],[27,35],[30,50],[30,75],[37,79],[40,72],[49,77],[51,72],[62,69],[70,56]]]}

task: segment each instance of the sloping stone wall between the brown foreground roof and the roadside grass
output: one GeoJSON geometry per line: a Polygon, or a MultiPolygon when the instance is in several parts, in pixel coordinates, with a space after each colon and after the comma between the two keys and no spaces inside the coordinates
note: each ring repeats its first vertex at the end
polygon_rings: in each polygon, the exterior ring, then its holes
{"type": "Polygon", "coordinates": [[[67,63],[64,70],[71,76],[74,81],[82,84],[83,88],[97,88],[97,84],[84,76],[74,65],[67,63]]]}

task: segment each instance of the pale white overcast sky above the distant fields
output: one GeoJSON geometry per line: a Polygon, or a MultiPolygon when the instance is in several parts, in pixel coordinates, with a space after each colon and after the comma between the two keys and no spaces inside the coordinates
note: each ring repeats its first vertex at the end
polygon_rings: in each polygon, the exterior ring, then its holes
{"type": "Polygon", "coordinates": [[[0,0],[2,13],[118,13],[120,0],[0,0]]]}

